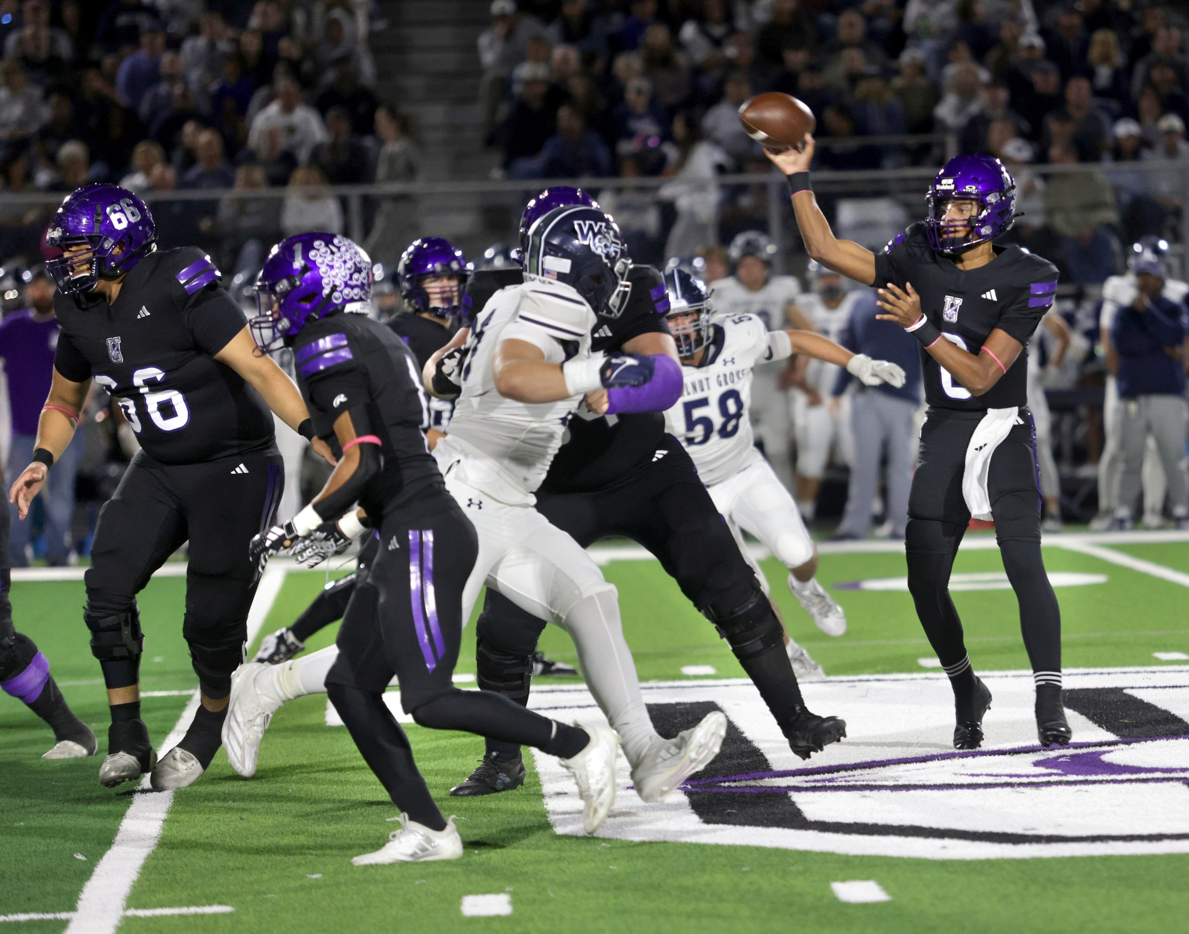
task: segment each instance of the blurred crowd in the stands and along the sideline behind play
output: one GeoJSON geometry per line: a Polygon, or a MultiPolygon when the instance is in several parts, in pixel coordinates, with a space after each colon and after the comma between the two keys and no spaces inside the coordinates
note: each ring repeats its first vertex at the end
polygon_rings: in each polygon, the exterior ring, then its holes
{"type": "MultiPolygon", "coordinates": [[[[873,297],[807,265],[784,183],[738,122],[779,90],[817,115],[814,188],[836,232],[870,248],[921,215],[949,156],[1004,160],[1023,212],[1007,239],[1061,270],[1030,354],[1048,528],[1178,523],[1187,29],[1183,5],[1145,0],[0,0],[0,454],[27,460],[52,361],[38,244],[88,181],[145,197],[162,245],[202,246],[245,305],[277,239],[347,233],[392,314],[414,238],[508,261],[524,201],[579,179],[637,261],[800,296],[775,303],[774,326],[862,340],[873,297]],[[1172,324],[1137,343],[1147,294],[1172,324]],[[1150,396],[1177,399],[1179,440],[1144,428],[1150,396]]],[[[832,377],[804,372],[765,386],[788,416],[761,433],[766,453],[817,530],[902,532],[911,452],[866,429],[872,417],[857,387],[835,397],[832,377]],[[870,491],[858,501],[853,478],[870,491]]],[[[134,448],[96,396],[76,479],[56,468],[17,563],[86,554],[134,448]]]]}

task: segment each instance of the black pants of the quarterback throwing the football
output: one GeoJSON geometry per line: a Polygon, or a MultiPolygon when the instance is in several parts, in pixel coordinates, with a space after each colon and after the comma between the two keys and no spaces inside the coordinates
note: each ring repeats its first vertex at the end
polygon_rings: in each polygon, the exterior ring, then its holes
{"type": "MultiPolygon", "coordinates": [[[[1036,430],[1032,414],[1020,409],[1020,415],[1024,424],[1015,425],[992,455],[987,492],[1004,569],[1019,601],[1024,645],[1033,673],[1043,676],[1061,671],[1061,607],[1040,556],[1036,430]]],[[[908,589],[925,635],[951,676],[968,667],[949,580],[970,522],[962,477],[967,447],[981,418],[982,412],[929,410],[908,498],[908,589]]]]}

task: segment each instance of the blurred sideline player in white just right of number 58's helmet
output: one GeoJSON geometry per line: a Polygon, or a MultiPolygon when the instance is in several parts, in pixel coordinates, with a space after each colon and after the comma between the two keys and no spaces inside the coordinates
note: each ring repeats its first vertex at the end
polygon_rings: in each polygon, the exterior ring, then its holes
{"type": "MultiPolygon", "coordinates": [[[[755,315],[769,329],[779,330],[786,321],[806,328],[804,316],[797,308],[801,285],[794,276],[774,276],[772,261],[776,257],[776,245],[759,231],[743,231],[731,240],[726,250],[731,274],[725,279],[707,282],[715,296],[715,308],[724,315],[755,315]]],[[[793,488],[792,461],[788,447],[792,425],[788,419],[789,398],[786,384],[792,378],[784,366],[760,365],[755,371],[751,424],[763,455],[780,478],[780,482],[793,488]]]]}

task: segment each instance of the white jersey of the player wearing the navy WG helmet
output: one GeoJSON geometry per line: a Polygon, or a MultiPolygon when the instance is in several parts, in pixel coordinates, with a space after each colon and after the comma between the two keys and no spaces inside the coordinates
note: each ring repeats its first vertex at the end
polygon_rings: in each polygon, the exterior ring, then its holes
{"type": "Polygon", "coordinates": [[[590,355],[594,321],[594,313],[573,288],[549,279],[510,285],[491,296],[464,345],[463,392],[454,403],[448,436],[464,442],[460,447],[478,455],[496,477],[484,478],[483,471],[472,468],[474,475],[467,482],[503,499],[509,492],[535,491],[561,447],[566,422],[584,398],[529,404],[501,396],[491,370],[496,346],[509,339],[528,341],[549,362],[562,364],[590,355]],[[508,491],[501,480],[514,490],[508,491]]]}

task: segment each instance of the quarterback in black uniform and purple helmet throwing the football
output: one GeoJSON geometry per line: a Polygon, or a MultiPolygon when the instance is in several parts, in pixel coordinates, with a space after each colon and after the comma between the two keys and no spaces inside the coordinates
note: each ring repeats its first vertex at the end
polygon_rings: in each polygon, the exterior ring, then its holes
{"type": "Polygon", "coordinates": [[[958,156],[926,195],[920,223],[879,254],[838,240],[809,184],[813,140],[768,151],[788,177],[810,255],[875,285],[880,317],[921,346],[925,400],[920,459],[912,480],[905,550],[908,589],[954,688],[956,749],[977,749],[990,692],[970,668],[949,579],[973,517],[993,519],[1004,569],[1020,607],[1036,681],[1037,734],[1069,743],[1061,696],[1061,608],[1040,555],[1036,429],[1027,410],[1027,343],[1057,291],[1045,259],[1000,246],[1015,216],[1015,183],[999,159],[958,156]]]}

